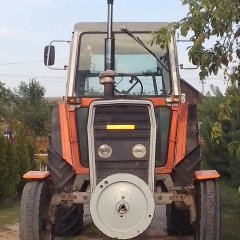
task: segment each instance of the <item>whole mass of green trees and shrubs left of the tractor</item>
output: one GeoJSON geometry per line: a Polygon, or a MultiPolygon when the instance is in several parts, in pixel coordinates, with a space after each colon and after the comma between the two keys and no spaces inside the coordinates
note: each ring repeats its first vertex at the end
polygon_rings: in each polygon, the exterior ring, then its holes
{"type": "Polygon", "coordinates": [[[2,135],[0,126],[0,203],[21,193],[25,172],[37,169],[36,135],[48,132],[49,106],[45,88],[36,79],[21,83],[15,93],[0,82],[0,123],[16,131],[13,141],[2,135]]]}

